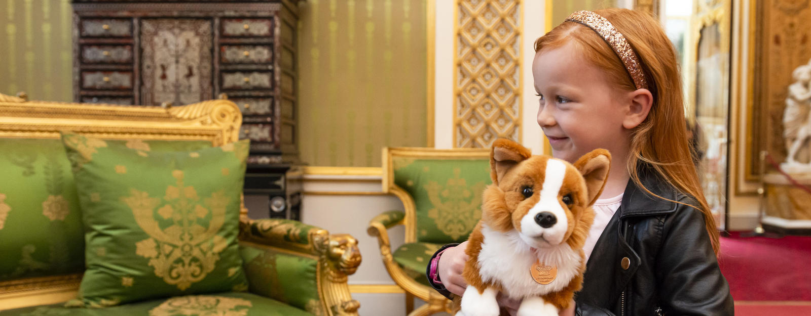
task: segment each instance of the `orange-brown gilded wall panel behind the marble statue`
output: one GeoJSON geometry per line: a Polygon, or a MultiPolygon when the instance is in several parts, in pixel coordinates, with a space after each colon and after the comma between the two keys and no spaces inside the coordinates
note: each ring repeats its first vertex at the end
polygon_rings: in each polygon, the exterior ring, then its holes
{"type": "Polygon", "coordinates": [[[783,111],[792,71],[811,58],[811,2],[758,1],[754,39],[754,103],[747,136],[745,179],[757,180],[758,154],[766,150],[777,162],[785,160],[783,111]]]}

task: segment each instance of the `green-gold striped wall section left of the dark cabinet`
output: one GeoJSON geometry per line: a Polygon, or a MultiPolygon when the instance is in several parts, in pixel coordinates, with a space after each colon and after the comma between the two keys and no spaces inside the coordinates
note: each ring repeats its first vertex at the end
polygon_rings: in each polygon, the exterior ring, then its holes
{"type": "Polygon", "coordinates": [[[0,93],[73,100],[72,15],[70,0],[0,1],[0,93]]]}

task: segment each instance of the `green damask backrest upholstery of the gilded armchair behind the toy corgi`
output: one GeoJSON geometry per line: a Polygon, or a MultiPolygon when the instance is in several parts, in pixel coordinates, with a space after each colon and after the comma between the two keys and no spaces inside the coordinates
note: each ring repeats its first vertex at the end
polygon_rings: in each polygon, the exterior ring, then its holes
{"type": "Polygon", "coordinates": [[[419,242],[464,242],[482,218],[489,158],[393,157],[394,183],[414,198],[419,242]]]}

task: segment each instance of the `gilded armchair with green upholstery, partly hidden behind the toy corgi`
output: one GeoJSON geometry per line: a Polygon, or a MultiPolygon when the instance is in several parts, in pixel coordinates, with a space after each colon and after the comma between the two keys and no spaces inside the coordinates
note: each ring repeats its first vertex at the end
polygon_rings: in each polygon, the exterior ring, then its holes
{"type": "Polygon", "coordinates": [[[405,290],[406,313],[450,311],[425,271],[440,246],[465,241],[481,218],[489,158],[489,150],[384,148],[383,192],[397,196],[404,209],[372,218],[368,233],[377,237],[389,276],[405,290]],[[392,250],[388,229],[396,225],[405,225],[405,243],[392,250]],[[427,304],[414,310],[413,297],[427,304]]]}

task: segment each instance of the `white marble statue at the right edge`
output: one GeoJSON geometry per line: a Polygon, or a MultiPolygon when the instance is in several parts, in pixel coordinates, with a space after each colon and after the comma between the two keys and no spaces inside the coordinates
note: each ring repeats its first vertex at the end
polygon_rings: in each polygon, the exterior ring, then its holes
{"type": "Polygon", "coordinates": [[[788,155],[783,169],[792,173],[811,173],[811,61],[792,73],[783,112],[783,137],[788,155]]]}

